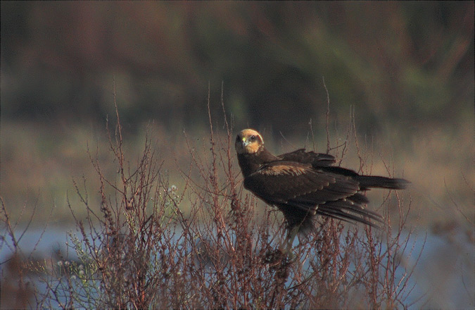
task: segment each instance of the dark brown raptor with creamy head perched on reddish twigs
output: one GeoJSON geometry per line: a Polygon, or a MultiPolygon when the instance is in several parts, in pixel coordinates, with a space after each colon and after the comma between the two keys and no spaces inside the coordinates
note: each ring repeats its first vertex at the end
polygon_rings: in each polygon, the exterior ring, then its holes
{"type": "Polygon", "coordinates": [[[316,214],[373,226],[381,216],[363,207],[368,203],[363,192],[372,187],[402,190],[410,183],[332,166],[334,156],[305,149],[274,156],[252,129],[239,132],[235,147],[244,187],[284,213],[292,239],[313,227],[316,214]]]}

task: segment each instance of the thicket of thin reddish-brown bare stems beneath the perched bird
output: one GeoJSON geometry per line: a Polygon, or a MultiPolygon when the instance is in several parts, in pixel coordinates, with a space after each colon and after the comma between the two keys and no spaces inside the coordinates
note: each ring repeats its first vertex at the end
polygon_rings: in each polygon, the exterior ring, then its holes
{"type": "MultiPolygon", "coordinates": [[[[281,217],[270,207],[256,212],[257,200],[241,185],[233,130],[225,117],[223,128],[224,134],[215,130],[210,115],[204,155],[186,139],[191,161],[179,167],[184,185],[177,188],[165,178],[151,130],[141,156],[127,157],[117,113],[114,129],[108,129],[115,175],[106,176],[98,153],[88,151],[101,184],[100,211],[91,205],[96,199],[89,198],[87,180],[74,181],[87,210],[84,221],[70,205],[75,230],[67,252],[77,259],[66,253],[56,261],[26,263],[40,280],[34,299],[25,297],[25,304],[63,309],[410,306],[412,270],[401,263],[403,256],[417,260],[410,233],[401,234],[410,202],[388,193],[383,208],[398,209],[400,216],[393,219],[384,211],[384,230],[322,219],[314,233],[293,244],[292,255],[284,255],[278,250],[285,235],[281,217]],[[186,213],[180,208],[184,202],[190,205],[186,213]]],[[[3,211],[8,215],[5,206],[3,211]]],[[[13,229],[5,237],[14,237],[13,229]]]]}

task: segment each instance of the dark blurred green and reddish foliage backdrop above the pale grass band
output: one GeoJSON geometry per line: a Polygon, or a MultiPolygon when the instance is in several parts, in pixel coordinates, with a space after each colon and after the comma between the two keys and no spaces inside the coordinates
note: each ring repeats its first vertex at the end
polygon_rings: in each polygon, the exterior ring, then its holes
{"type": "Polygon", "coordinates": [[[2,118],[103,120],[115,79],[126,123],[205,123],[209,85],[237,127],[293,132],[324,120],[323,78],[364,130],[455,125],[474,1],[1,1],[2,118]]]}

